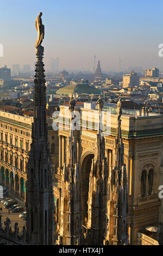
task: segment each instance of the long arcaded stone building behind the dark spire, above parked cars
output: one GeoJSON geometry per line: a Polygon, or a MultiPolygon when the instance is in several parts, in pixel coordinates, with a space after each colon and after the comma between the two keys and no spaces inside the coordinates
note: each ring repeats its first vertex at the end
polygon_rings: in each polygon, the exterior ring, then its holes
{"type": "MultiPolygon", "coordinates": [[[[27,162],[32,143],[33,118],[0,111],[0,184],[26,201],[27,162]],[[15,174],[15,176],[14,176],[15,174]]],[[[53,176],[58,168],[58,132],[47,119],[53,176]]]]}

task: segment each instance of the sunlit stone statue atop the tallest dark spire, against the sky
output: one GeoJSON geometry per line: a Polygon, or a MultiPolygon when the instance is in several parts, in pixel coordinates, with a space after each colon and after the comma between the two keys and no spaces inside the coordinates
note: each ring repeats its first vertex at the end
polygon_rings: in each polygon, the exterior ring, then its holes
{"type": "Polygon", "coordinates": [[[37,49],[39,46],[41,46],[41,43],[43,41],[44,38],[44,25],[42,25],[42,19],[41,19],[42,13],[39,13],[39,15],[36,17],[36,21],[35,21],[35,27],[36,27],[36,31],[38,33],[37,35],[37,40],[35,42],[35,48],[37,49]]]}

